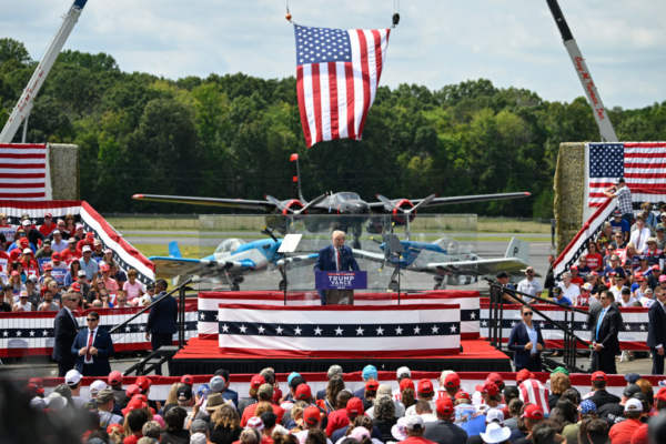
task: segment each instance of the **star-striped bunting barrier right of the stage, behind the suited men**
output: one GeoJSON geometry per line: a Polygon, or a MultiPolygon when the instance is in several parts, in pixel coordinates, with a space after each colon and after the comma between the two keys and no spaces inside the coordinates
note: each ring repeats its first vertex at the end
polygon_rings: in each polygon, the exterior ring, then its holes
{"type": "MultiPolygon", "coordinates": [[[[484,337],[488,337],[488,324],[490,324],[490,304],[483,302],[481,304],[481,335],[484,337]]],[[[538,304],[537,309],[547,316],[549,316],[553,321],[564,322],[564,310],[554,305],[538,304]]],[[[588,307],[579,306],[583,311],[587,311],[588,307]]],[[[619,346],[622,350],[636,350],[636,351],[645,351],[649,350],[646,345],[647,343],[647,326],[649,321],[647,319],[647,311],[649,309],[646,307],[627,307],[619,309],[623,317],[623,325],[619,329],[619,346]]],[[[591,316],[581,313],[572,313],[573,315],[573,327],[574,334],[581,337],[582,340],[588,341],[591,334],[591,316]]],[[[544,341],[546,342],[546,347],[548,349],[562,349],[564,342],[564,332],[559,329],[556,329],[555,325],[545,321],[541,315],[534,312],[534,322],[536,322],[544,336],[544,341]]],[[[521,317],[521,305],[518,304],[505,304],[504,305],[504,319],[502,321],[502,340],[503,342],[508,342],[508,336],[511,334],[512,327],[518,322],[523,322],[521,317]]],[[[569,321],[569,327],[571,321],[569,321]]],[[[584,344],[577,343],[578,349],[586,349],[584,344]]]]}

